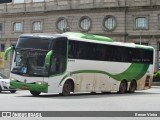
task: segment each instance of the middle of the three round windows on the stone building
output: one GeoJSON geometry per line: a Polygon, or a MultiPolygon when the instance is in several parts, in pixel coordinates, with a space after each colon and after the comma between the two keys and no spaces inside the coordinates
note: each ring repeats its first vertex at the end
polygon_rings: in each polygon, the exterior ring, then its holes
{"type": "Polygon", "coordinates": [[[79,27],[82,31],[88,31],[91,28],[91,19],[87,16],[84,16],[79,21],[79,27]]]}

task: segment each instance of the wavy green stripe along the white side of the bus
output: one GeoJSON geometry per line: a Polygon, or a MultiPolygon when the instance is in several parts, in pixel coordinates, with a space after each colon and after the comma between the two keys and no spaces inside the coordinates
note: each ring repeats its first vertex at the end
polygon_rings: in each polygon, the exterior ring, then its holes
{"type": "MultiPolygon", "coordinates": [[[[127,70],[115,75],[105,71],[101,71],[101,70],[78,70],[78,71],[71,72],[70,74],[74,75],[79,73],[99,73],[99,74],[104,74],[106,76],[109,76],[117,81],[121,81],[124,79],[127,81],[131,81],[133,79],[139,80],[140,78],[142,78],[147,72],[148,68],[149,68],[149,64],[131,64],[127,70]]],[[[65,80],[65,78],[67,78],[67,75],[65,75],[62,78],[59,84],[61,84],[65,80]]]]}

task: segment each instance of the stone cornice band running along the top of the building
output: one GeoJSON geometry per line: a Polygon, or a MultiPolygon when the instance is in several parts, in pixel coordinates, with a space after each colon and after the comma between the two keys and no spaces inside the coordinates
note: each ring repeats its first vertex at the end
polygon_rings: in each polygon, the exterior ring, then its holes
{"type": "Polygon", "coordinates": [[[133,0],[115,0],[115,2],[97,2],[91,0],[89,3],[80,3],[79,0],[63,0],[59,2],[40,2],[40,3],[21,3],[21,4],[0,4],[0,15],[9,15],[17,13],[39,13],[39,12],[57,12],[57,11],[74,11],[74,10],[157,10],[160,9],[160,3],[147,0],[147,3],[135,4],[133,0]],[[66,1],[66,2],[65,2],[66,1]],[[63,4],[62,4],[63,3],[63,4]]]}

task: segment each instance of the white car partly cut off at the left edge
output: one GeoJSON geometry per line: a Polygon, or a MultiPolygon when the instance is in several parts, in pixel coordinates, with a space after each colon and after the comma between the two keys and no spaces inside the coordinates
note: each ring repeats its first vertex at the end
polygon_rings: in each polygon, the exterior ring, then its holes
{"type": "Polygon", "coordinates": [[[10,88],[9,79],[0,73],[0,93],[1,91],[10,91],[11,93],[15,93],[16,89],[10,88]]]}

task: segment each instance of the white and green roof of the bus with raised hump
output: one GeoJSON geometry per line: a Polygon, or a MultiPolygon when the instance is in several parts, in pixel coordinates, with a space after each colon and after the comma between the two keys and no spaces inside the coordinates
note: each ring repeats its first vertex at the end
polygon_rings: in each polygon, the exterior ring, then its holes
{"type": "Polygon", "coordinates": [[[126,42],[113,42],[113,40],[109,37],[78,33],[78,32],[66,32],[63,34],[33,33],[33,34],[22,34],[20,37],[46,37],[46,38],[68,37],[68,39],[73,39],[78,41],[80,40],[86,42],[95,42],[101,44],[154,50],[154,48],[151,46],[137,45],[135,43],[126,43],[126,42]]]}

